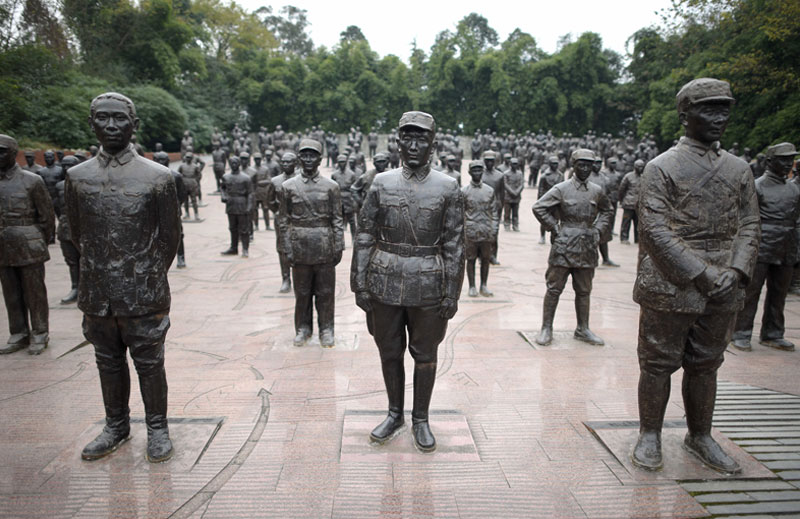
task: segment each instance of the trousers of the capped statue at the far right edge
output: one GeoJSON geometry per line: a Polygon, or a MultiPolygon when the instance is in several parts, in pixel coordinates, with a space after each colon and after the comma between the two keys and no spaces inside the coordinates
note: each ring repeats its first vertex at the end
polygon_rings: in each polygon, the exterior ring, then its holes
{"type": "Polygon", "coordinates": [[[762,339],[783,339],[785,332],[783,309],[786,295],[792,282],[794,269],[785,265],[756,263],[755,272],[747,285],[744,308],[736,314],[733,338],[750,340],[753,335],[753,320],[758,311],[761,289],[767,284],[767,297],[764,299],[764,316],[761,319],[762,339]]]}

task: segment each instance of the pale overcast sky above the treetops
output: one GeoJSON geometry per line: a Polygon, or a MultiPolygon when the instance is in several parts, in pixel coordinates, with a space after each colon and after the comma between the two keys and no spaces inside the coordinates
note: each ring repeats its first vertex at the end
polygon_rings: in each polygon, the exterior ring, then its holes
{"type": "Polygon", "coordinates": [[[357,25],[367,37],[372,50],[381,57],[395,54],[408,61],[411,42],[430,51],[436,35],[445,29],[455,31],[456,24],[475,12],[489,21],[500,41],[515,28],[536,38],[545,52],[556,51],[558,39],[567,33],[578,36],[593,31],[603,38],[603,45],[625,53],[625,40],[642,27],[657,24],[656,11],[671,5],[670,0],[547,0],[520,2],[510,0],[441,1],[362,1],[362,0],[237,0],[248,11],[272,5],[278,11],[294,5],[308,11],[314,45],[330,48],[339,42],[339,33],[348,25],[357,25]]]}

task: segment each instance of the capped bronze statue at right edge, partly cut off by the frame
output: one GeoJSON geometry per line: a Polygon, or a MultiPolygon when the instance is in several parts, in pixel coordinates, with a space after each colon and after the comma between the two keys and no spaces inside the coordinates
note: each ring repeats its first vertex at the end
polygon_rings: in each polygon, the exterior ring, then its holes
{"type": "Polygon", "coordinates": [[[733,329],[731,344],[740,350],[752,349],[753,319],[761,288],[766,283],[759,342],[770,348],[794,351],[794,344],[783,337],[783,308],[794,267],[800,263],[800,187],[786,178],[796,155],[794,144],[782,142],[770,146],[767,169],[755,182],[761,215],[761,244],[753,277],[747,285],[744,308],[737,314],[733,329]]]}

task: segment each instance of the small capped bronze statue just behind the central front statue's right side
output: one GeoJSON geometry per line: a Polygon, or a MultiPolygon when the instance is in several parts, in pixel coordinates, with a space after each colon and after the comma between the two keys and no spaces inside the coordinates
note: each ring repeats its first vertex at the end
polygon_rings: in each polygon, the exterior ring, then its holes
{"type": "Polygon", "coordinates": [[[481,291],[484,297],[493,294],[487,286],[489,265],[492,259],[492,244],[497,238],[500,222],[497,218],[497,199],[494,189],[484,184],[483,162],[473,160],[469,164],[469,176],[472,181],[461,188],[464,197],[464,234],[467,257],[467,282],[469,296],[477,297],[475,288],[475,261],[481,259],[481,291]]]}

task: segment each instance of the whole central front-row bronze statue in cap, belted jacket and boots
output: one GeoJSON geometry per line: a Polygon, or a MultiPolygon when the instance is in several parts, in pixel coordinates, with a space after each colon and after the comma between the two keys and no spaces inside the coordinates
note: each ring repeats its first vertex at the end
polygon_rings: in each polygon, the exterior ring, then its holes
{"type": "Polygon", "coordinates": [[[414,445],[436,448],[428,424],[437,350],[464,281],[464,205],[458,183],[431,169],[436,125],[424,112],[400,118],[403,167],[376,175],[359,214],[350,286],[381,357],[389,414],[370,434],[384,443],[405,424],[406,343],[414,358],[414,445]],[[406,339],[408,337],[408,340],[406,339]]]}

